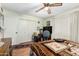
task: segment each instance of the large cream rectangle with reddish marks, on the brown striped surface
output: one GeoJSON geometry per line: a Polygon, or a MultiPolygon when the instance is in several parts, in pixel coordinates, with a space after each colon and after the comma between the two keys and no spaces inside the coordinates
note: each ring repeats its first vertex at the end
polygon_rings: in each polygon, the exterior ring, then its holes
{"type": "Polygon", "coordinates": [[[55,53],[59,53],[67,48],[67,46],[65,46],[64,44],[57,42],[45,43],[44,45],[53,50],[55,53]]]}

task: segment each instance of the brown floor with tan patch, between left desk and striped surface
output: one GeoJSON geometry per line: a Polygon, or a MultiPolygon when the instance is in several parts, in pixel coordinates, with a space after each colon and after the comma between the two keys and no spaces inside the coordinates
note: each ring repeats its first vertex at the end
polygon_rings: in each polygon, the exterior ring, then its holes
{"type": "Polygon", "coordinates": [[[30,44],[32,42],[24,42],[18,45],[15,45],[12,49],[12,56],[30,56],[31,48],[30,44]]]}

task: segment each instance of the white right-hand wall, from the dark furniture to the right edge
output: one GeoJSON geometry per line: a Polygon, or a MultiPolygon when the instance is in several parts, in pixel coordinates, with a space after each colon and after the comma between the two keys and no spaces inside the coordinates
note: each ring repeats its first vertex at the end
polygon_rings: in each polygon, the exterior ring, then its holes
{"type": "MultiPolygon", "coordinates": [[[[50,17],[46,21],[50,20],[53,26],[52,38],[65,38],[73,41],[79,41],[79,8],[66,11],[55,17],[50,17]]],[[[46,22],[44,21],[44,22],[46,22]]],[[[46,23],[44,23],[45,25],[46,23]]]]}

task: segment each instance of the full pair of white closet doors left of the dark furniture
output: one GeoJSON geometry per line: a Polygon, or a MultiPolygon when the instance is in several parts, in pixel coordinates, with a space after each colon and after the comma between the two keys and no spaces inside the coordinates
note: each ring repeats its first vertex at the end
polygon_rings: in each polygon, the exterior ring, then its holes
{"type": "Polygon", "coordinates": [[[37,24],[34,21],[19,20],[17,27],[17,39],[16,43],[23,43],[32,41],[33,32],[37,31],[37,24]]]}

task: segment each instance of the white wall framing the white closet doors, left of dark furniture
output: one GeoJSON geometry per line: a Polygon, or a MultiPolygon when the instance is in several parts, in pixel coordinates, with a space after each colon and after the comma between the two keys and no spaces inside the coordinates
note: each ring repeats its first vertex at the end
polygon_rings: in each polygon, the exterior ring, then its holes
{"type": "Polygon", "coordinates": [[[18,25],[19,20],[27,20],[27,21],[34,21],[34,22],[40,21],[41,23],[39,24],[39,26],[42,27],[41,18],[30,16],[30,15],[18,14],[16,12],[13,12],[7,9],[4,9],[4,20],[5,20],[4,21],[4,26],[5,26],[4,37],[12,37],[12,44],[19,44],[19,41],[23,41],[22,39],[21,40],[17,39],[17,34],[16,34],[16,32],[18,31],[17,28],[19,26],[18,25]]]}

